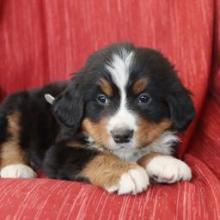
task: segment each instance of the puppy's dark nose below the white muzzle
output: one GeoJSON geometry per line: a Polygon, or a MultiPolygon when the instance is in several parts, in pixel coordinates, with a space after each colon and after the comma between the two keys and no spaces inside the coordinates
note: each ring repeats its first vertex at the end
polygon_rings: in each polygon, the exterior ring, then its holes
{"type": "Polygon", "coordinates": [[[133,137],[134,131],[130,129],[114,129],[111,131],[116,143],[128,143],[133,137]]]}

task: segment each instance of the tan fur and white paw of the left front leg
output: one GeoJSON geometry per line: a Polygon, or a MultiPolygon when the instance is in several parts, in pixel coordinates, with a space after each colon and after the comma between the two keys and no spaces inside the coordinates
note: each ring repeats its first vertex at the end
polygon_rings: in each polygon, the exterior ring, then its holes
{"type": "Polygon", "coordinates": [[[136,163],[120,160],[112,154],[100,154],[90,161],[82,175],[94,185],[118,194],[136,194],[149,184],[146,171],[136,163]]]}

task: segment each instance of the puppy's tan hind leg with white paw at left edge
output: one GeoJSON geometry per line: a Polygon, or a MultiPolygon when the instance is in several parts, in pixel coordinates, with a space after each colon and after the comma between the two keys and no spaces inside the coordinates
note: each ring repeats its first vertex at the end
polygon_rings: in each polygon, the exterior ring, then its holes
{"type": "Polygon", "coordinates": [[[20,146],[19,114],[7,116],[7,137],[1,143],[1,171],[2,178],[33,178],[36,176],[27,165],[25,153],[20,146]]]}

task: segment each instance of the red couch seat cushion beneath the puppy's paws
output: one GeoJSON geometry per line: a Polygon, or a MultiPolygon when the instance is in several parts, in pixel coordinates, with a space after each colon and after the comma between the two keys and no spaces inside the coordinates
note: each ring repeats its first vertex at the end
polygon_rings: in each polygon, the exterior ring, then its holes
{"type": "Polygon", "coordinates": [[[1,180],[1,219],[212,219],[220,218],[220,180],[187,155],[192,182],[154,185],[117,196],[89,184],[50,179],[1,180]]]}

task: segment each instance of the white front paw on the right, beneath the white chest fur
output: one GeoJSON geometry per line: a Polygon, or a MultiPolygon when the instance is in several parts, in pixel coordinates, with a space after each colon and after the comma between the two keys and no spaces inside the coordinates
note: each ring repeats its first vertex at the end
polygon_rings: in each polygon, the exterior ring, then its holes
{"type": "Polygon", "coordinates": [[[192,172],[189,166],[171,156],[157,156],[146,167],[148,175],[159,183],[174,183],[181,180],[189,181],[192,172]]]}

